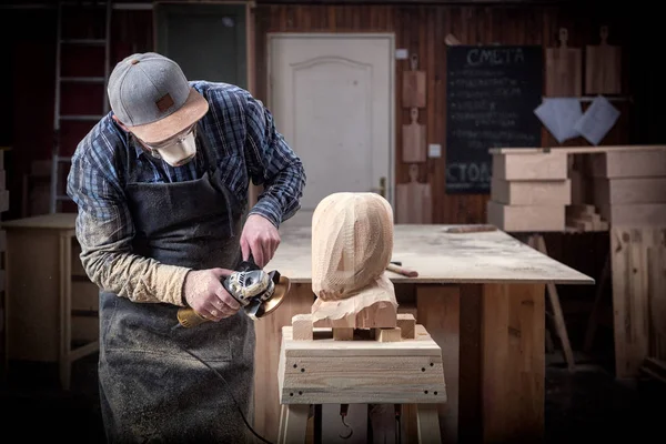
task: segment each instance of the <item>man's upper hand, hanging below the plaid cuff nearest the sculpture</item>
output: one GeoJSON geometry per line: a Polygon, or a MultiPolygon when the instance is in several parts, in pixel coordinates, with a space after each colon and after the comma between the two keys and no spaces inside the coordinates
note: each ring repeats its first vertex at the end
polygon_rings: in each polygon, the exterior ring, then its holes
{"type": "Polygon", "coordinates": [[[252,253],[254,263],[263,269],[273,259],[278,245],[280,245],[280,233],[275,225],[264,216],[250,214],[241,234],[243,261],[246,261],[252,253]]]}

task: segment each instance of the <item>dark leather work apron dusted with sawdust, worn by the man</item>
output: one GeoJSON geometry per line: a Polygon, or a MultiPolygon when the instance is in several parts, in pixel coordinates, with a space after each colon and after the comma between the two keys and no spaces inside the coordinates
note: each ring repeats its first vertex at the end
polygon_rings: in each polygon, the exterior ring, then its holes
{"type": "MultiPolygon", "coordinates": [[[[164,264],[233,270],[244,214],[201,139],[201,179],[127,185],[134,252],[164,264]]],[[[241,310],[216,323],[173,329],[178,309],[100,293],[100,398],[110,443],[242,443],[251,436],[230,390],[252,424],[253,321],[241,310]]]]}

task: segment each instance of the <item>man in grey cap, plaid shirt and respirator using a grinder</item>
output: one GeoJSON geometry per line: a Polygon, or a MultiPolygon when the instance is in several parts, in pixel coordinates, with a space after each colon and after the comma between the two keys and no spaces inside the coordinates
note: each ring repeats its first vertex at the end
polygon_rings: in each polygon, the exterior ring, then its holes
{"type": "Polygon", "coordinates": [[[189,82],[160,54],[122,60],[108,93],[112,111],[68,178],[81,261],[101,289],[108,440],[243,442],[254,324],[221,280],[250,254],[261,268],[272,259],[280,223],[300,209],[303,165],[250,93],[189,82]],[[250,180],[264,192],[246,211],[250,180]],[[186,305],[212,322],[174,327],[186,305]]]}

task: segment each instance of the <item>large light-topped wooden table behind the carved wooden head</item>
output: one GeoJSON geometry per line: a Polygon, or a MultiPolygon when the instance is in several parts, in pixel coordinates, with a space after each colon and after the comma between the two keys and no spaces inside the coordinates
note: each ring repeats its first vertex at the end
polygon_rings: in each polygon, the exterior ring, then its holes
{"type": "MultiPolygon", "coordinates": [[[[387,272],[398,312],[413,313],[442,347],[446,404],[443,442],[537,442],[544,437],[545,285],[594,284],[503,231],[448,233],[458,225],[397,224],[387,272]]],[[[281,229],[266,265],[290,278],[283,304],[256,323],[255,431],[278,436],[281,329],[314,302],[310,226],[281,229]]],[[[405,424],[408,427],[408,424],[405,424]]]]}

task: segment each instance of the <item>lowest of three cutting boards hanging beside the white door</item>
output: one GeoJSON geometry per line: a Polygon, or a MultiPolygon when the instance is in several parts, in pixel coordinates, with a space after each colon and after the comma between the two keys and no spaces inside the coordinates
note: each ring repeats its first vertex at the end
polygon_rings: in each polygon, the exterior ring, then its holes
{"type": "Polygon", "coordinates": [[[430,183],[418,182],[418,165],[410,165],[410,182],[395,185],[397,223],[432,223],[430,183]]]}

